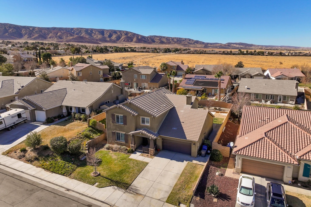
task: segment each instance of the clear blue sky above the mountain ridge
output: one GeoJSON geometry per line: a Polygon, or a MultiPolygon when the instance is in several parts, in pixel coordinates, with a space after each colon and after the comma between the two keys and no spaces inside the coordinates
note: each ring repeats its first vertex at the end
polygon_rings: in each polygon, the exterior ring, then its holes
{"type": "Polygon", "coordinates": [[[311,47],[311,1],[2,1],[1,23],[311,47]]]}

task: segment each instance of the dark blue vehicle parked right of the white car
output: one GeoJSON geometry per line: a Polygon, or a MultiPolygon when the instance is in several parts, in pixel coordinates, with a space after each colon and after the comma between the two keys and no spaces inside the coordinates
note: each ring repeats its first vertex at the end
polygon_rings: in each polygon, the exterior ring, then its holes
{"type": "Polygon", "coordinates": [[[275,182],[268,182],[266,188],[267,207],[285,207],[286,197],[284,187],[275,182]]]}

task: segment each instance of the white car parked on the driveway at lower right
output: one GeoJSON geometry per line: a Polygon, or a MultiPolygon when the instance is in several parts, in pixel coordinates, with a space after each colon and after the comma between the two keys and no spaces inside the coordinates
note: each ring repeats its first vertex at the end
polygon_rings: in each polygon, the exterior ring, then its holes
{"type": "Polygon", "coordinates": [[[239,178],[238,194],[236,202],[239,206],[254,207],[255,205],[255,179],[249,175],[241,175],[239,178]]]}

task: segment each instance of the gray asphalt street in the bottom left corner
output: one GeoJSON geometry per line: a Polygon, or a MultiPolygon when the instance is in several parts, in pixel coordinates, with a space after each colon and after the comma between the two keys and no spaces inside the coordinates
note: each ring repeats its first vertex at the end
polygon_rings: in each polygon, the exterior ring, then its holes
{"type": "Polygon", "coordinates": [[[86,200],[0,169],[1,207],[98,207],[86,200]]]}

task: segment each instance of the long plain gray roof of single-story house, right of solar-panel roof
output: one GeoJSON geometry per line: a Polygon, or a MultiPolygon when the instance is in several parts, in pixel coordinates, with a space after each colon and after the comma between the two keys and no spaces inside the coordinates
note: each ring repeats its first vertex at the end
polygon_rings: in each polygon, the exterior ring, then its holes
{"type": "Polygon", "coordinates": [[[295,82],[295,80],[242,78],[238,92],[297,96],[295,82]]]}

